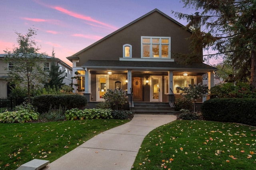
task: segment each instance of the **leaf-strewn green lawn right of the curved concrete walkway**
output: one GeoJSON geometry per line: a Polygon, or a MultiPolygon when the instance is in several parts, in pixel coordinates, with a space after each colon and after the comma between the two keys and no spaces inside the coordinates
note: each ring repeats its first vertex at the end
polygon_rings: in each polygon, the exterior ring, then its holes
{"type": "Polygon", "coordinates": [[[256,170],[256,128],[176,120],[145,137],[133,169],[256,170]]]}

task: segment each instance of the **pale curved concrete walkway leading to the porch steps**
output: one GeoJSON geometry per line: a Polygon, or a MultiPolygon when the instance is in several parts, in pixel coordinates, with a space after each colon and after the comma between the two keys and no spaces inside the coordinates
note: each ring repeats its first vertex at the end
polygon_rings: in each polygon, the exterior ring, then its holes
{"type": "Polygon", "coordinates": [[[130,122],[93,137],[44,170],[131,170],[144,137],[174,120],[175,115],[135,114],[130,122]]]}

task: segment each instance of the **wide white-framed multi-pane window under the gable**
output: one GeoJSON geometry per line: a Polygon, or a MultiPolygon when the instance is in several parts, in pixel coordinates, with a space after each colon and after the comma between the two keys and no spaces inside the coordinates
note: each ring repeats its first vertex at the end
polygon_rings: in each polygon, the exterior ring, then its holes
{"type": "Polygon", "coordinates": [[[170,59],[171,37],[141,37],[141,58],[170,59]]]}

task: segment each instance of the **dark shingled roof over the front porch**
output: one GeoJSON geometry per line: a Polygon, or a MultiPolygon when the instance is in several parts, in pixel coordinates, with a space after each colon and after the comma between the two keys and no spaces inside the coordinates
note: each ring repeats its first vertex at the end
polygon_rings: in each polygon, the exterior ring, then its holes
{"type": "Polygon", "coordinates": [[[90,70],[152,70],[152,71],[190,71],[190,72],[210,72],[217,68],[204,63],[192,63],[182,65],[178,62],[159,61],[113,61],[113,60],[88,60],[82,65],[90,70]]]}

